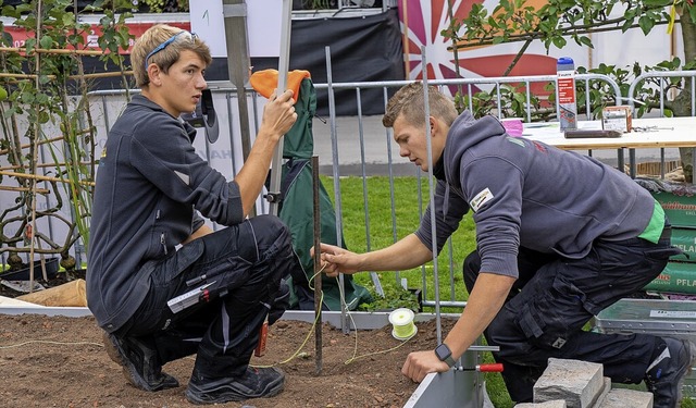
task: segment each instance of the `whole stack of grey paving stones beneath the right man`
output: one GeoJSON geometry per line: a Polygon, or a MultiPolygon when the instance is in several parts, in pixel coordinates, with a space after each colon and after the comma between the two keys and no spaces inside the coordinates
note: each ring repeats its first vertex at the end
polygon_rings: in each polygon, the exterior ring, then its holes
{"type": "Polygon", "coordinates": [[[604,367],[594,362],[549,358],[534,384],[534,403],[514,408],[652,408],[652,393],[611,388],[604,367]]]}

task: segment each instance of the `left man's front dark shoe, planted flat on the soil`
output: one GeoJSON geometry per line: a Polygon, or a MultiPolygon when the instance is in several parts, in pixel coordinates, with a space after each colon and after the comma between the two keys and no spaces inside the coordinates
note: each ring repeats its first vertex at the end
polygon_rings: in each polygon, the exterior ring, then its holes
{"type": "Polygon", "coordinates": [[[285,374],[276,368],[254,369],[247,367],[239,379],[207,378],[194,368],[188,382],[186,399],[192,404],[222,404],[249,398],[268,398],[283,391],[285,374]]]}

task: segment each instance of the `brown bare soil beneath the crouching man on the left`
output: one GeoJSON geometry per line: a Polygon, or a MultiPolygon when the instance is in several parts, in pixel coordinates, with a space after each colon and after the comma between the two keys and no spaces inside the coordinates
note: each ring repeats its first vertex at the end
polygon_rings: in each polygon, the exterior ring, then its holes
{"type": "MultiPolygon", "coordinates": [[[[269,331],[266,354],[253,366],[274,364],[286,373],[285,391],[274,398],[219,407],[401,407],[418,384],[401,375],[412,350],[434,348],[435,321],[417,323],[415,337],[401,344],[391,327],[349,335],[324,324],[322,372],[315,374],[314,331],[310,323],[281,320],[269,331]],[[309,337],[308,337],[309,336],[309,337]],[[351,357],[358,358],[346,363],[351,357]],[[364,357],[362,357],[364,356],[364,357]]],[[[451,322],[443,320],[443,330],[451,322]]],[[[147,393],[129,385],[101,344],[94,318],[0,314],[0,403],[3,407],[190,407],[184,391],[192,357],[172,361],[164,371],[177,388],[147,393]]]]}

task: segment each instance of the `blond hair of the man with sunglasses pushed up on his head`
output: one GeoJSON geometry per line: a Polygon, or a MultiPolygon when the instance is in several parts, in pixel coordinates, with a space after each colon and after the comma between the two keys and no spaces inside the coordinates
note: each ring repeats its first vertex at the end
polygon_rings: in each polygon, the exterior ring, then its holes
{"type": "Polygon", "coordinates": [[[133,75],[135,76],[137,87],[142,88],[150,83],[147,71],[149,64],[154,63],[162,72],[167,73],[169,69],[178,61],[182,51],[185,50],[196,52],[196,54],[203,60],[206,66],[210,65],[213,60],[210,54],[210,48],[197,36],[183,34],[188,33],[185,33],[182,28],[172,27],[171,25],[157,24],[148,28],[136,39],[133,51],[130,51],[130,65],[133,66],[133,75]],[[146,61],[150,52],[172,38],[171,44],[156,51],[148,58],[148,61],[146,61]]]}

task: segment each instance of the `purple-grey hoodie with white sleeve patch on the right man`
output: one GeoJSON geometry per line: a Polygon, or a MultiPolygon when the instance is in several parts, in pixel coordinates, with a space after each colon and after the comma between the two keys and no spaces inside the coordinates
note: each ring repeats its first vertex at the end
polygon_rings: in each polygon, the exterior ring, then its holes
{"type": "MultiPolygon", "coordinates": [[[[520,246],[583,258],[599,237],[638,236],[655,208],[650,194],[618,170],[511,137],[495,118],[474,120],[469,111],[452,123],[438,164],[437,250],[471,209],[485,272],[517,277],[520,246]]],[[[432,248],[430,207],[415,234],[432,248]]]]}

